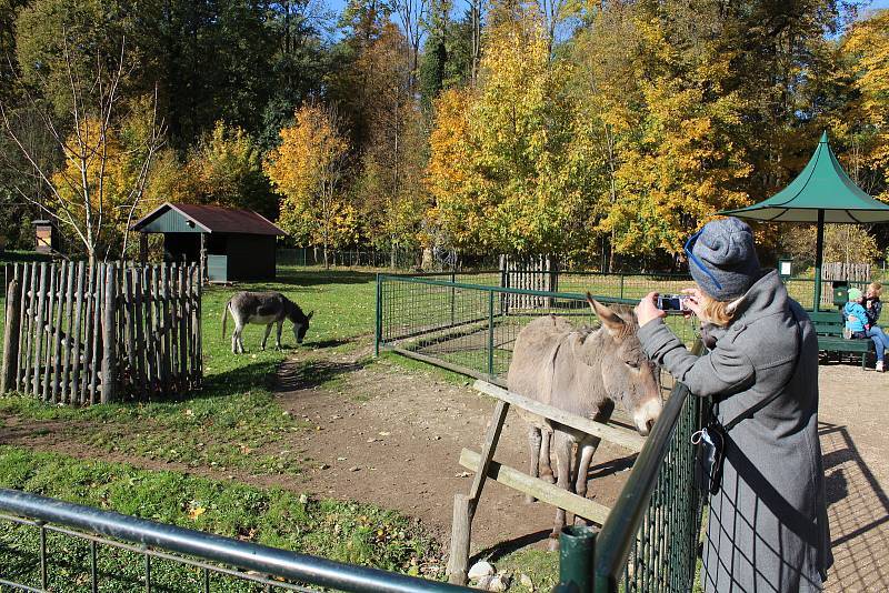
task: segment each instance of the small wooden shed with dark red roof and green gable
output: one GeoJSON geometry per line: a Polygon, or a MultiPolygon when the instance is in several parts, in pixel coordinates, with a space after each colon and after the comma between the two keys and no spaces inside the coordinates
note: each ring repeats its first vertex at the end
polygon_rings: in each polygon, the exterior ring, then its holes
{"type": "Polygon", "coordinates": [[[251,210],[170,202],[132,230],[142,233],[143,260],[148,233],[160,233],[164,260],[198,262],[203,258],[211,282],[273,280],[276,238],[287,234],[251,210]]]}

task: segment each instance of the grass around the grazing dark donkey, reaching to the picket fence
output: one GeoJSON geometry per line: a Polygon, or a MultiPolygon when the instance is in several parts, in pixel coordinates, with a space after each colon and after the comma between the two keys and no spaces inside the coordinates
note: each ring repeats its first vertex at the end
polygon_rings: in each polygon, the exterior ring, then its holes
{"type": "MultiPolygon", "coordinates": [[[[66,436],[103,451],[154,461],[183,463],[250,474],[296,474],[302,460],[278,443],[287,433],[311,428],[284,414],[270,391],[274,373],[288,353],[303,354],[299,385],[341,389],[348,365],[321,363],[312,350],[346,353],[350,340],[372,332],[374,277],[359,272],[284,270],[281,282],[209,288],[203,294],[204,385],[181,399],[118,403],[86,409],[53,406],[28,396],[0,398],[0,413],[30,420],[63,420],[66,436]],[[263,328],[248,325],[246,354],[232,354],[221,335],[221,314],[236,290],[280,290],[306,312],[314,310],[311,328],[297,346],[289,323],[284,350],[259,349],[263,328]]],[[[227,331],[231,332],[229,319],[227,331]]],[[[270,346],[273,338],[270,338],[270,346]]]]}

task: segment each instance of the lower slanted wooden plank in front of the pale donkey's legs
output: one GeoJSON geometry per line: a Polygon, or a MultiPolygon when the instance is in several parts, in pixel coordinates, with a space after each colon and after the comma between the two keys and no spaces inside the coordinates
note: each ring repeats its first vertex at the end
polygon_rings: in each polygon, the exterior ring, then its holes
{"type": "MultiPolygon", "coordinates": [[[[478,453],[469,449],[463,449],[460,452],[460,465],[469,471],[478,471],[480,459],[481,456],[478,453]]],[[[605,524],[605,521],[608,519],[608,513],[611,512],[608,506],[599,504],[596,501],[578,496],[555,484],[545,482],[539,478],[531,478],[509,465],[503,465],[496,461],[492,461],[488,466],[488,478],[512,490],[530,494],[547,504],[565,509],[570,513],[588,519],[597,525],[605,524]]]]}

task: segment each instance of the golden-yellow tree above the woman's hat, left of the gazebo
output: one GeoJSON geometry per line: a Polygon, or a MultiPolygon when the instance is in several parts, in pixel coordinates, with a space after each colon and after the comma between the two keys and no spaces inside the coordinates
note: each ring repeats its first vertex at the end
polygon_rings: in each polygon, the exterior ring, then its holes
{"type": "Polygon", "coordinates": [[[622,253],[679,253],[690,231],[719,210],[749,203],[750,174],[732,139],[743,98],[723,89],[730,48],[681,56],[660,19],[636,22],[633,58],[641,104],[618,141],[618,199],[601,223],[622,253]]]}

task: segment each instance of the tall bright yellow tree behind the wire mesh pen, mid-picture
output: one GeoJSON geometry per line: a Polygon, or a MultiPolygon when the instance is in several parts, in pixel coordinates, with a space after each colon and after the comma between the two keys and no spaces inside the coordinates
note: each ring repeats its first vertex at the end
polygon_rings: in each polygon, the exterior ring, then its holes
{"type": "Polygon", "coordinates": [[[488,40],[478,89],[447,92],[437,105],[428,169],[436,224],[457,248],[571,251],[589,200],[569,64],[550,62],[533,11],[505,19],[488,40]]]}

